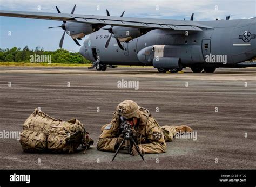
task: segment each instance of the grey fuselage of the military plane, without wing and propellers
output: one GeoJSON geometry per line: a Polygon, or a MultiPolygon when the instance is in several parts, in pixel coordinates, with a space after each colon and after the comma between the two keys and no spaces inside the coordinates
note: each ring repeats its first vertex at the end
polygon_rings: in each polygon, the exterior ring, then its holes
{"type": "MultiPolygon", "coordinates": [[[[100,29],[88,35],[80,53],[93,62],[108,65],[140,65],[157,67],[159,57],[163,64],[177,61],[180,67],[248,67],[240,62],[256,56],[256,19],[201,21],[212,28],[203,31],[155,29],[145,35],[122,43],[100,29]]],[[[173,68],[176,62],[170,63],[173,68]]],[[[160,65],[159,65],[160,66],[160,65]]],[[[169,67],[169,66],[168,66],[169,67]]],[[[167,67],[167,68],[168,68],[167,67]]]]}

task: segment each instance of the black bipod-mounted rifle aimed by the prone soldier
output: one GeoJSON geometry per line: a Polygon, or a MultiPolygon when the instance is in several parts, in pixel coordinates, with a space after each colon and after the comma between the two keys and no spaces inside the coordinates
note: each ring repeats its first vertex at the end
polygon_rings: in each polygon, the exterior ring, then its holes
{"type": "Polygon", "coordinates": [[[121,125],[120,125],[120,128],[118,128],[118,129],[121,130],[121,133],[123,134],[124,139],[120,143],[116,153],[114,154],[112,161],[117,156],[120,148],[123,146],[124,143],[125,143],[125,150],[128,150],[129,154],[131,154],[131,148],[132,148],[132,145],[134,145],[137,152],[139,153],[140,157],[142,157],[142,159],[145,161],[145,159],[142,155],[142,152],[140,152],[137,143],[134,141],[134,134],[133,134],[134,132],[132,131],[133,129],[131,128],[130,123],[127,122],[123,116],[120,116],[120,121],[121,121],[121,125]]]}

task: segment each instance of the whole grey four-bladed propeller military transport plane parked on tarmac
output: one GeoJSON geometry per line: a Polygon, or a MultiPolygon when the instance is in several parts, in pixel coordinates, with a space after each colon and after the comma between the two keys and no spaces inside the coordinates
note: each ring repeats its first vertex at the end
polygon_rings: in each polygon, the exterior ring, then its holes
{"type": "MultiPolygon", "coordinates": [[[[0,16],[63,21],[65,34],[77,45],[85,37],[80,54],[97,70],[116,65],[153,66],[160,73],[176,73],[190,67],[194,73],[213,73],[219,67],[251,67],[256,56],[256,18],[214,21],[91,16],[74,14],[0,11],[0,16]]],[[[49,27],[52,28],[52,27],[49,27]]]]}

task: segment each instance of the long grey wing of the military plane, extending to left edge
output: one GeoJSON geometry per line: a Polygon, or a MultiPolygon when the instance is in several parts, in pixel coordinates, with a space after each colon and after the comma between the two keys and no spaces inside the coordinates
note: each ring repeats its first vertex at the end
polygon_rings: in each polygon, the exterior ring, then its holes
{"type": "Polygon", "coordinates": [[[170,30],[202,31],[201,28],[211,28],[198,21],[153,19],[153,18],[129,18],[114,16],[93,16],[77,15],[68,13],[43,13],[43,12],[23,12],[23,11],[3,11],[0,16],[47,19],[58,21],[75,21],[79,23],[126,26],[136,28],[164,28],[170,30]]]}

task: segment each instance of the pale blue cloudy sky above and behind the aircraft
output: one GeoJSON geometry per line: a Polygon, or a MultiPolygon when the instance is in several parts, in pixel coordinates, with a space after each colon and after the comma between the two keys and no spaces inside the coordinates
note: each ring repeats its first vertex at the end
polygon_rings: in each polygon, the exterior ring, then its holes
{"type": "MultiPolygon", "coordinates": [[[[194,20],[198,21],[225,19],[228,15],[231,15],[231,19],[256,17],[255,0],[0,0],[0,10],[56,13],[57,5],[61,12],[70,13],[75,4],[75,13],[84,15],[106,15],[106,9],[109,9],[112,16],[119,16],[125,10],[125,17],[186,20],[194,12],[194,20]]],[[[30,48],[40,46],[54,51],[59,48],[63,30],[48,30],[48,27],[61,24],[61,21],[0,17],[0,48],[23,48],[28,45],[30,48]]],[[[79,51],[79,46],[68,35],[65,36],[63,48],[79,51]]]]}

